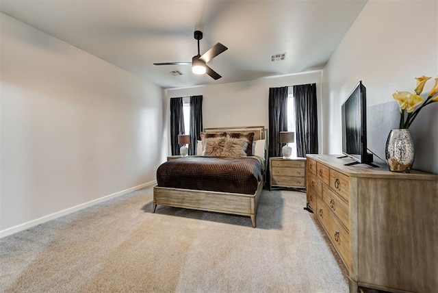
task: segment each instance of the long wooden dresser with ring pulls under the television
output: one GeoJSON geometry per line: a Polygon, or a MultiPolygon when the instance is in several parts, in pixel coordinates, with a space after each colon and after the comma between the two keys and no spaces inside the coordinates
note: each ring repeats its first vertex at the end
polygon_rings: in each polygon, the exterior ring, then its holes
{"type": "Polygon", "coordinates": [[[307,204],[358,286],[389,292],[438,288],[438,175],[307,155],[307,204]]]}

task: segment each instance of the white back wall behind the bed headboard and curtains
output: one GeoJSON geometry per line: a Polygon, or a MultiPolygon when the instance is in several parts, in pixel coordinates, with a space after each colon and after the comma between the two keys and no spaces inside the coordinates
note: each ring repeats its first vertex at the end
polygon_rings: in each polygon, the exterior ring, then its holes
{"type": "MultiPolygon", "coordinates": [[[[166,90],[166,133],[170,135],[170,98],[203,95],[203,127],[264,126],[269,128],[269,88],[316,84],[321,105],[321,71],[213,86],[166,90]]],[[[291,89],[292,90],[292,89],[291,89]]],[[[320,106],[318,106],[320,107],[320,106]]],[[[321,110],[319,109],[319,112],[321,110]]],[[[321,119],[318,120],[319,128],[321,119]]],[[[319,131],[319,140],[322,133],[319,131]]],[[[320,144],[321,145],[321,144],[320,144]]],[[[170,142],[168,144],[170,154],[170,142]]]]}

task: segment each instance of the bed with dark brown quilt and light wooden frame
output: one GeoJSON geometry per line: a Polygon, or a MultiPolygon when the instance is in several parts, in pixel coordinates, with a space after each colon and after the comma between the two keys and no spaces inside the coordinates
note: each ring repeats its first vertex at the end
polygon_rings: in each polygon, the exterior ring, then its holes
{"type": "MultiPolygon", "coordinates": [[[[222,141],[229,142],[229,140],[222,141]]],[[[236,214],[249,216],[253,227],[256,227],[257,207],[266,170],[266,129],[264,127],[206,128],[203,131],[203,141],[199,143],[203,145],[203,156],[181,157],[168,161],[157,169],[157,186],[153,189],[153,213],[157,205],[167,205],[236,214]],[[253,138],[250,144],[244,146],[244,153],[252,154],[257,144],[259,155],[242,155],[242,157],[211,155],[215,153],[207,152],[209,142],[213,142],[216,137],[223,137],[223,133],[226,133],[227,138],[231,140],[237,138],[239,142],[241,138],[253,138]],[[260,151],[261,145],[263,155],[260,151]],[[216,164],[222,164],[218,167],[220,174],[212,175],[211,172],[216,172],[214,167],[216,164]],[[192,172],[190,169],[194,173],[190,173],[192,172]],[[253,174],[244,175],[244,169],[248,169],[249,173],[253,174]],[[218,186],[224,189],[221,190],[218,186]],[[246,187],[242,189],[240,188],[242,186],[246,187]]]]}

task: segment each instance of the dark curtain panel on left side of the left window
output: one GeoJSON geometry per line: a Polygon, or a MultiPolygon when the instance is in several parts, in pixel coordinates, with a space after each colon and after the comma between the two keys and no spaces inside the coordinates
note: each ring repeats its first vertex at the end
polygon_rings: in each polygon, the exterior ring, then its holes
{"type": "Polygon", "coordinates": [[[183,98],[170,98],[170,147],[172,155],[181,155],[178,134],[184,134],[183,98]]]}

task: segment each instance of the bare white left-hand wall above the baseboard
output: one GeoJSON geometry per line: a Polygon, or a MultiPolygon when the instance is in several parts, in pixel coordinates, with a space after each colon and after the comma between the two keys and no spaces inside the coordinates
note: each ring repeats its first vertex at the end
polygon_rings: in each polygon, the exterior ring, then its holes
{"type": "Polygon", "coordinates": [[[155,181],[161,88],[5,14],[0,61],[1,235],[155,181]]]}

